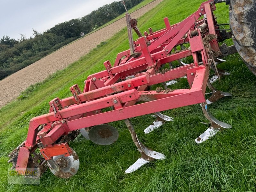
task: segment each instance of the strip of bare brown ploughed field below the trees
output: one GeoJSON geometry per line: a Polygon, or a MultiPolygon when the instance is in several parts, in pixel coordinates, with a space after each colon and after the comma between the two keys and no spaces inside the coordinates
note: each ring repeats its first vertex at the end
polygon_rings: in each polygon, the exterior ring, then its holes
{"type": "MultiPolygon", "coordinates": [[[[162,1],[156,0],[140,8],[131,14],[132,18],[139,18],[162,1]]],[[[100,42],[106,41],[125,26],[125,18],[117,20],[1,80],[0,108],[16,99],[20,92],[24,91],[30,85],[43,81],[57,70],[66,68],[69,64],[84,56],[100,44],[100,42]],[[8,97],[6,97],[7,95],[8,97]]]]}

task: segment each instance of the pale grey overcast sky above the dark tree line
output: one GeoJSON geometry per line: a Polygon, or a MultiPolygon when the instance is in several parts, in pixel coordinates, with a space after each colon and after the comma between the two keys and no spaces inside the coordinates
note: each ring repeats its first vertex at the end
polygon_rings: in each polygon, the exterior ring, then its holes
{"type": "Polygon", "coordinates": [[[0,37],[32,36],[63,21],[83,17],[102,5],[119,0],[0,0],[0,37]]]}

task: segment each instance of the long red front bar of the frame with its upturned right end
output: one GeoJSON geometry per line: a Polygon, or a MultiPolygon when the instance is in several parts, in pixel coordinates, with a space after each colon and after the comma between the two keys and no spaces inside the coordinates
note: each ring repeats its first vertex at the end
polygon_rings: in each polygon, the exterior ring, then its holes
{"type": "MultiPolygon", "coordinates": [[[[206,70],[206,66],[205,68],[197,70],[196,75],[196,84],[199,84],[200,86],[197,86],[195,88],[193,87],[193,89],[188,89],[187,93],[174,95],[163,99],[157,99],[130,107],[116,109],[93,116],[79,118],[76,120],[68,121],[67,125],[70,131],[73,131],[84,127],[94,126],[97,124],[104,124],[136,116],[155,113],[158,111],[203,103],[205,102],[205,97],[204,90],[202,90],[202,88],[206,87],[207,80],[205,80],[205,77],[208,76],[208,70],[206,70]]],[[[160,94],[162,95],[162,93],[160,94]]]]}

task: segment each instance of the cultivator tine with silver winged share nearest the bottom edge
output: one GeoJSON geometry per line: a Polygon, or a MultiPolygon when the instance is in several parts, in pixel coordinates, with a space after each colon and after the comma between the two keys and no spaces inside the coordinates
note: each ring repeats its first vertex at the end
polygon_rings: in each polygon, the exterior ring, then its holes
{"type": "Polygon", "coordinates": [[[153,151],[153,150],[145,147],[141,143],[141,141],[138,139],[138,136],[132,126],[130,119],[125,119],[124,122],[131,133],[132,140],[133,140],[135,146],[138,148],[138,151],[140,151],[140,153],[141,153],[141,157],[134,164],[132,164],[132,166],[130,166],[127,170],[125,170],[125,173],[134,172],[137,169],[139,169],[142,165],[147,164],[154,159],[163,160],[166,158],[164,154],[153,151]]]}

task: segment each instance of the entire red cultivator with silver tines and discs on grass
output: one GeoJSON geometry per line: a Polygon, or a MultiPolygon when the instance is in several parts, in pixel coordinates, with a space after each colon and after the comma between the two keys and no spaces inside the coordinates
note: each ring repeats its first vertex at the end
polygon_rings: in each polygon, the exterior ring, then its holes
{"type": "Polygon", "coordinates": [[[118,132],[107,123],[124,120],[141,153],[141,157],[125,171],[133,172],[151,160],[166,157],[141,143],[129,118],[155,113],[156,121],[144,131],[149,133],[165,121],[173,121],[159,111],[198,103],[201,103],[211,126],[196,139],[197,143],[222,129],[231,128],[231,125],[215,119],[208,109],[210,103],[231,96],[212,86],[209,81],[210,68],[216,72],[216,79],[219,78],[225,73],[216,68],[221,60],[217,57],[235,52],[233,46],[227,47],[225,44],[222,46],[227,52],[221,50],[218,41],[230,38],[231,33],[219,29],[212,13],[214,10],[214,1],[204,2],[180,23],[170,26],[168,18],[164,18],[166,28],[156,32],[149,28],[149,33],[144,32],[144,36],[136,27],[137,21],[127,14],[130,50],[118,53],[113,66],[106,61],[106,70],[88,76],[83,92],[73,85],[70,87],[72,97],[53,99],[49,102],[48,114],[30,120],[27,140],[9,155],[13,168],[40,168],[43,172],[48,165],[56,176],[68,178],[76,174],[79,167],[78,156],[68,142],[81,131],[86,139],[94,143],[112,144],[117,140],[118,132]],[[132,28],[139,36],[137,41],[132,40],[132,28]],[[184,48],[185,43],[189,43],[188,49],[184,48]],[[175,51],[177,46],[181,47],[180,51],[175,51]],[[181,59],[188,56],[193,57],[193,63],[182,62],[181,59]],[[161,66],[175,60],[180,61],[180,66],[161,70],[161,66]],[[189,89],[167,88],[165,82],[170,84],[184,76],[189,89]],[[165,90],[149,90],[151,85],[162,83],[165,90]],[[212,96],[205,100],[207,86],[212,90],[212,96]]]}

